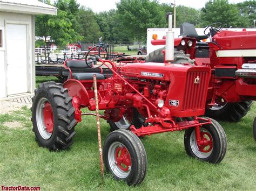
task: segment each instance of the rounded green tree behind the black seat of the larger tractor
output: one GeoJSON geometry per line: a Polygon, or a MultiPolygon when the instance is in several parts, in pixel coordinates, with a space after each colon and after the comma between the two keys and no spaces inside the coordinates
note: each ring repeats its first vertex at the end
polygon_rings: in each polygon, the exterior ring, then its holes
{"type": "Polygon", "coordinates": [[[238,27],[242,22],[237,6],[229,4],[228,0],[208,1],[201,9],[201,18],[203,27],[216,22],[238,27]]]}

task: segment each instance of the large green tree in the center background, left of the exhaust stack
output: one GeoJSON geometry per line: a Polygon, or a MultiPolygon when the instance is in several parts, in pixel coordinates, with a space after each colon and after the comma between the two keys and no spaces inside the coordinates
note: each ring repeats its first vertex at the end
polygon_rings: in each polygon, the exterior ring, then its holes
{"type": "Polygon", "coordinates": [[[166,23],[164,9],[155,0],[121,0],[117,3],[117,14],[122,32],[137,38],[139,47],[147,28],[164,27],[166,23]]]}

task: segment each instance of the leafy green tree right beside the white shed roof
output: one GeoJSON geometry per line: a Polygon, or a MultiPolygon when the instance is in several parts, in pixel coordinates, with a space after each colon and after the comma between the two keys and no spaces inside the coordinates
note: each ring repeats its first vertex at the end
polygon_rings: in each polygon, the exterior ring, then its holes
{"type": "MultiPolygon", "coordinates": [[[[65,2],[69,3],[73,0],[67,0],[65,2]]],[[[50,4],[49,0],[44,0],[45,3],[50,4]]],[[[63,2],[59,0],[58,2],[63,2]]],[[[56,5],[58,5],[58,2],[56,5]]],[[[50,41],[55,43],[59,47],[64,47],[69,43],[77,42],[82,40],[83,37],[80,36],[78,32],[75,31],[75,26],[72,25],[70,12],[58,9],[57,16],[50,15],[38,15],[36,16],[36,36],[42,37],[44,41],[44,51],[45,51],[45,63],[46,60],[46,39],[50,37],[50,41]]]]}

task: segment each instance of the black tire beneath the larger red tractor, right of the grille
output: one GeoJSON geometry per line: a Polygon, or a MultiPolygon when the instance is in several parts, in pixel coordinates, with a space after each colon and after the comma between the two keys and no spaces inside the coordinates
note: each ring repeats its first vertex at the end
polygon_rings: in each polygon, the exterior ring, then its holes
{"type": "Polygon", "coordinates": [[[214,106],[205,109],[205,115],[222,121],[239,122],[251,109],[253,101],[225,103],[223,106],[214,106]]]}

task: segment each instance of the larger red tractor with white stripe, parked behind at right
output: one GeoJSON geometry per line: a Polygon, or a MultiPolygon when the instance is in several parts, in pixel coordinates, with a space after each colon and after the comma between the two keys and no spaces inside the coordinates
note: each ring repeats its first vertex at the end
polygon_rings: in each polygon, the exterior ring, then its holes
{"type": "MultiPolygon", "coordinates": [[[[205,115],[215,119],[238,122],[256,100],[256,31],[223,30],[225,25],[207,26],[199,36],[194,25],[181,24],[181,38],[175,39],[178,62],[210,66],[211,80],[206,98],[205,115]],[[215,26],[215,27],[214,27],[215,26]],[[206,31],[209,29],[209,33],[206,31]],[[200,42],[210,38],[210,43],[200,42]]],[[[152,40],[153,45],[165,45],[165,39],[152,40]]],[[[146,57],[146,62],[166,62],[163,49],[146,57]]],[[[255,120],[255,119],[254,119],[255,120]]],[[[256,122],[254,137],[256,140],[256,122]]]]}

